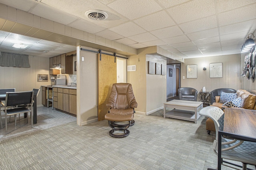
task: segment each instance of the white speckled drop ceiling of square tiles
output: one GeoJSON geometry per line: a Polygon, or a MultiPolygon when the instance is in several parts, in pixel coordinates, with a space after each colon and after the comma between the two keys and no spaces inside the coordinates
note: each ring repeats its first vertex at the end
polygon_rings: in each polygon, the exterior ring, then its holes
{"type": "MultiPolygon", "coordinates": [[[[256,0],[1,0],[0,3],[134,48],[158,45],[186,58],[240,53],[256,32],[256,0]],[[108,18],[91,20],[88,10],[108,18]]],[[[2,36],[2,34],[1,34],[2,36]]],[[[12,33],[3,35],[12,39],[12,33]]],[[[57,53],[60,43],[27,38],[24,51],[57,53]]],[[[8,48],[8,42],[1,46],[8,48]],[[4,46],[6,45],[6,46],[4,46]]],[[[2,47],[1,47],[2,48],[2,47]]]]}

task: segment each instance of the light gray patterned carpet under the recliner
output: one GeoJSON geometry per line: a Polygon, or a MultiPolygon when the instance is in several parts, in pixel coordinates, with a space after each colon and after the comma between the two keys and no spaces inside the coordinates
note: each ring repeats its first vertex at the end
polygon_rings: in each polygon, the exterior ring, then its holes
{"type": "MultiPolygon", "coordinates": [[[[162,112],[162,111],[159,111],[162,112]]],[[[161,113],[156,113],[161,115],[161,113]]],[[[153,113],[154,115],[154,113],[153,113]]],[[[138,115],[128,137],[108,135],[108,121],[70,122],[0,142],[0,169],[207,170],[217,167],[205,117],[198,124],[138,115]]],[[[222,170],[234,170],[222,166],[222,170]]]]}

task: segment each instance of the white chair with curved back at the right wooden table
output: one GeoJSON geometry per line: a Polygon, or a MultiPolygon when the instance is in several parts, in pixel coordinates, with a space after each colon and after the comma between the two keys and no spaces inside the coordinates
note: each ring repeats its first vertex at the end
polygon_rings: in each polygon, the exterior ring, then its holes
{"type": "MultiPolygon", "coordinates": [[[[218,155],[218,131],[224,130],[224,111],[216,106],[207,106],[200,110],[200,115],[211,118],[214,121],[216,139],[213,142],[214,153],[218,155]]],[[[256,165],[256,143],[242,141],[239,139],[227,139],[221,136],[221,158],[222,162],[239,166],[223,159],[242,162],[243,170],[247,164],[256,165]]],[[[239,166],[241,167],[241,166],[239,166]]],[[[208,168],[210,170],[210,168],[208,168]]]]}

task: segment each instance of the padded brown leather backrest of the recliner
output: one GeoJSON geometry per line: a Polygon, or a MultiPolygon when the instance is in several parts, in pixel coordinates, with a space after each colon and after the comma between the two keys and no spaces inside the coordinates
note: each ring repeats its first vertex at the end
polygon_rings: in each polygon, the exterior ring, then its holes
{"type": "Polygon", "coordinates": [[[132,84],[113,84],[108,101],[114,104],[115,109],[130,108],[131,103],[136,101],[132,90],[132,84]]]}

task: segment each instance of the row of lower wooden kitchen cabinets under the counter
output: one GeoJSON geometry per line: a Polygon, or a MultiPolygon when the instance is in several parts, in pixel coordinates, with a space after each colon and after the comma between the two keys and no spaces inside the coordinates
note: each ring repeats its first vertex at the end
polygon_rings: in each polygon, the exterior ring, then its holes
{"type": "Polygon", "coordinates": [[[76,115],[76,89],[53,88],[53,106],[76,115]]]}

